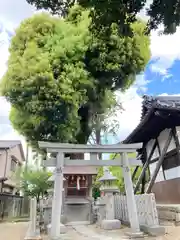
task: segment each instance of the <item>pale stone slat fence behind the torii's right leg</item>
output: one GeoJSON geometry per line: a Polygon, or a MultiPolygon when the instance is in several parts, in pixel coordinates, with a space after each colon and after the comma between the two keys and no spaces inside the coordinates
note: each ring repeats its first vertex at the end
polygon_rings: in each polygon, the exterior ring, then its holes
{"type": "MultiPolygon", "coordinates": [[[[155,196],[151,194],[136,195],[136,205],[140,225],[159,225],[155,196]]],[[[114,196],[115,218],[129,222],[126,196],[114,196]]]]}

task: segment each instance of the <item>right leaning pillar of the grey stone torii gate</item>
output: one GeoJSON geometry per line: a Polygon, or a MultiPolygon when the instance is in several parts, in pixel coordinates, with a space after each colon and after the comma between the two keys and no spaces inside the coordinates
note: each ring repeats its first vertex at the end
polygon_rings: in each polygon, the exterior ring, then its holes
{"type": "Polygon", "coordinates": [[[122,170],[123,170],[123,176],[124,176],[130,226],[133,233],[139,233],[140,232],[139,219],[138,219],[137,206],[136,206],[136,200],[135,200],[134,191],[133,191],[131,170],[129,166],[127,153],[122,153],[122,159],[123,159],[122,170]]]}

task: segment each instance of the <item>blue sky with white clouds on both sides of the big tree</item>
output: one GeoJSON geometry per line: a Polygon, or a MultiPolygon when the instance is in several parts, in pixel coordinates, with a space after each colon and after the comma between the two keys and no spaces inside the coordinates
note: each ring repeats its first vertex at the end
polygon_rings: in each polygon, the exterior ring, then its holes
{"type": "MultiPolygon", "coordinates": [[[[9,32],[12,33],[23,19],[34,13],[35,9],[25,0],[0,1],[0,77],[7,69],[9,32]]],[[[145,17],[144,12],[141,17],[145,17]]],[[[180,28],[170,36],[159,36],[157,31],[151,33],[151,60],[145,71],[137,76],[136,82],[126,93],[117,93],[124,111],[113,116],[120,124],[118,138],[115,141],[123,140],[139,123],[142,95],[180,94],[179,40],[180,28]]],[[[22,136],[19,136],[10,125],[9,111],[9,103],[0,97],[0,138],[23,141],[22,136]]]]}

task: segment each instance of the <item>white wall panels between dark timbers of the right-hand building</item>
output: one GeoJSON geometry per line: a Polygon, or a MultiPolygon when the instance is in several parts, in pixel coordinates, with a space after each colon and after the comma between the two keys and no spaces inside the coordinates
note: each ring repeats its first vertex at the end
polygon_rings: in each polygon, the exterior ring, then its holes
{"type": "MultiPolygon", "coordinates": [[[[178,137],[180,139],[180,127],[176,127],[177,129],[177,134],[178,134],[178,137]]],[[[158,136],[158,142],[159,142],[159,145],[160,145],[160,150],[162,151],[163,147],[164,147],[164,144],[168,138],[168,135],[169,135],[169,131],[170,129],[165,129],[164,131],[162,131],[160,133],[160,135],[158,136]]],[[[155,139],[151,139],[148,144],[147,144],[147,147],[146,147],[146,151],[147,151],[147,156],[149,156],[150,154],[150,151],[153,147],[153,144],[155,142],[155,139]]],[[[167,152],[175,149],[175,143],[174,143],[174,139],[171,140],[171,143],[168,147],[168,150],[167,152]]],[[[158,158],[159,157],[159,151],[158,151],[158,148],[156,147],[155,151],[154,151],[154,154],[152,156],[152,160],[155,159],[155,158],[158,158]]],[[[152,163],[150,164],[149,166],[149,169],[150,169],[150,173],[151,175],[153,174],[154,170],[155,170],[155,167],[156,167],[156,164],[157,162],[155,163],[152,163]]],[[[174,179],[174,178],[178,178],[180,177],[180,166],[179,167],[175,167],[175,168],[172,168],[172,169],[168,169],[168,170],[165,170],[164,171],[164,174],[163,174],[163,169],[162,167],[160,168],[159,170],[159,173],[156,177],[156,180],[155,182],[161,182],[161,181],[164,181],[164,175],[165,175],[165,179],[166,180],[170,180],[170,179],[174,179]]]]}

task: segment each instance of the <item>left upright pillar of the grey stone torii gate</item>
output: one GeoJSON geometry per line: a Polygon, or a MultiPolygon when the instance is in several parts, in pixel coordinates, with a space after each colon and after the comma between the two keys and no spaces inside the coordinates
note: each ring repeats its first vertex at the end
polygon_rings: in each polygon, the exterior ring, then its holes
{"type": "Polygon", "coordinates": [[[62,191],[63,191],[63,164],[64,153],[57,154],[57,165],[55,171],[54,194],[52,201],[52,219],[51,219],[51,239],[60,237],[60,220],[62,207],[62,191]]]}

